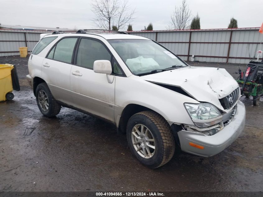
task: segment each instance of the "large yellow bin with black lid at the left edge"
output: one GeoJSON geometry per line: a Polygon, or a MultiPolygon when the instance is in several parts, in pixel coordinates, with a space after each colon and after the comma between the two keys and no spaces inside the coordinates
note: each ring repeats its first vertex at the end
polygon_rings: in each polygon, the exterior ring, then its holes
{"type": "Polygon", "coordinates": [[[0,101],[12,100],[13,89],[20,90],[15,65],[0,64],[0,101]]]}

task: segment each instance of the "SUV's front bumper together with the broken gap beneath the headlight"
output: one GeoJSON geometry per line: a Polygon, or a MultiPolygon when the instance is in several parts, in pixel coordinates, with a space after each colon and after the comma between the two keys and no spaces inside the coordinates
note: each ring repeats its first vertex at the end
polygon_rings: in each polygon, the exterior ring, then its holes
{"type": "Polygon", "coordinates": [[[218,124],[206,128],[181,124],[182,129],[175,131],[181,150],[203,157],[223,151],[242,133],[245,117],[245,106],[241,101],[237,101],[232,110],[222,114],[218,124]]]}

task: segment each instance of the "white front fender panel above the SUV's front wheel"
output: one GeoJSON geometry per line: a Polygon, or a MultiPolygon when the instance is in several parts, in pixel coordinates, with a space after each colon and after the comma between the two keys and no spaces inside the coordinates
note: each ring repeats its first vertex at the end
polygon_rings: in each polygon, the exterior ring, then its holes
{"type": "Polygon", "coordinates": [[[137,76],[116,77],[115,82],[115,105],[125,108],[129,104],[137,104],[156,111],[167,121],[193,124],[184,103],[199,103],[195,99],[137,76]]]}

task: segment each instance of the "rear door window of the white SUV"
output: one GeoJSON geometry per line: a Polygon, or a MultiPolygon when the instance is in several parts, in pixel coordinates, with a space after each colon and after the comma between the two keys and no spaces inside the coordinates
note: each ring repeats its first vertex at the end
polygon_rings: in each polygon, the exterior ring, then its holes
{"type": "Polygon", "coordinates": [[[76,44],[77,38],[64,38],[60,40],[56,46],[50,51],[48,58],[59,60],[66,63],[71,63],[73,50],[76,44]]]}

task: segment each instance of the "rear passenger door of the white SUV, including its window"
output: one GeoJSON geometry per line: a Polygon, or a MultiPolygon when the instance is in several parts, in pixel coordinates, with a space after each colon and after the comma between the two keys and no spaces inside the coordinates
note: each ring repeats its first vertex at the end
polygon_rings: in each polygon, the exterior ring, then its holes
{"type": "Polygon", "coordinates": [[[71,105],[70,73],[73,51],[79,37],[63,37],[50,49],[42,63],[42,76],[58,101],[71,105]]]}

